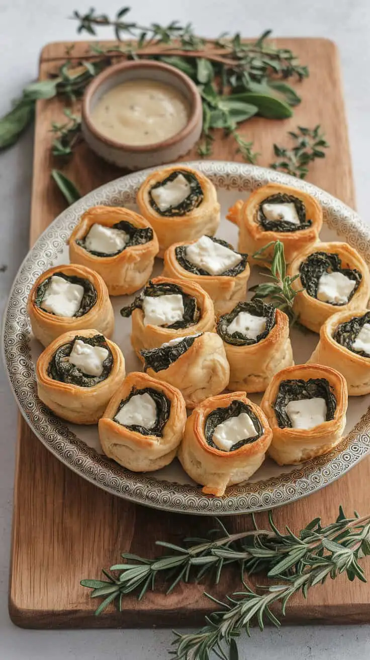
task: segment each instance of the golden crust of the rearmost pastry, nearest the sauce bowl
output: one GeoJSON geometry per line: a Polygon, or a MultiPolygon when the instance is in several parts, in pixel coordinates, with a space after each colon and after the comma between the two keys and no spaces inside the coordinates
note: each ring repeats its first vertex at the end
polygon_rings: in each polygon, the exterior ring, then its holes
{"type": "Polygon", "coordinates": [[[164,251],[175,241],[191,242],[197,240],[203,234],[213,236],[216,234],[218,225],[220,224],[220,204],[217,201],[217,192],[213,183],[201,172],[193,170],[190,167],[183,167],[182,165],[167,167],[152,172],[144,183],[140,185],[139,192],[137,193],[137,204],[140,213],[150,222],[158,236],[160,245],[158,257],[163,257],[164,251]],[[191,213],[187,213],[186,215],[175,217],[162,216],[154,211],[150,205],[150,189],[153,185],[163,181],[172,172],[176,172],[177,170],[185,170],[197,177],[204,195],[203,201],[197,209],[193,209],[191,213]]]}

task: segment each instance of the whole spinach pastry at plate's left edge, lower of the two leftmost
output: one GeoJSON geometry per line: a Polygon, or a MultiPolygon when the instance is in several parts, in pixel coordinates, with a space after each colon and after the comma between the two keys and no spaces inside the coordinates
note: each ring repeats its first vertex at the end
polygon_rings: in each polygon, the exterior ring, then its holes
{"type": "Polygon", "coordinates": [[[96,424],[125,378],[121,349],[93,329],[66,332],[38,358],[38,397],[75,424],[96,424]]]}

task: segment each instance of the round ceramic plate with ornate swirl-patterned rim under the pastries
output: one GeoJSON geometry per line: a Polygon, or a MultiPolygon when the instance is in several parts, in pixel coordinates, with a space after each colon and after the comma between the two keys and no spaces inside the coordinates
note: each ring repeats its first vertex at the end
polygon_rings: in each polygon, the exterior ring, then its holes
{"type": "MultiPolygon", "coordinates": [[[[319,188],[290,176],[263,168],[230,162],[195,162],[190,165],[208,176],[218,190],[222,221],[217,236],[237,246],[237,228],[225,220],[228,207],[253,189],[270,182],[285,183],[317,198],[324,211],[321,240],[344,240],[370,263],[370,228],[352,209],[319,188]]],[[[154,473],[133,473],[110,461],[102,454],[97,428],[66,424],[38,399],[34,364],[42,347],[32,337],[26,312],[28,293],[36,278],[51,265],[67,263],[66,240],[80,215],[97,204],[126,206],[135,209],[135,195],[148,172],[135,172],[107,183],[59,215],[22,263],[16,276],[3,327],[5,364],[24,418],[42,443],[81,477],[119,497],[139,504],[173,512],[223,515],[246,513],[287,504],[323,488],[360,461],[370,449],[370,396],[351,397],[348,407],[346,437],[326,456],[295,466],[278,467],[266,459],[262,467],[245,484],[232,486],[224,498],[205,496],[175,461],[154,473]]],[[[162,270],[162,261],[154,275],[162,270]]],[[[259,281],[254,267],[251,284],[259,281]]],[[[131,319],[123,319],[119,309],[133,296],[113,298],[115,333],[113,341],[122,348],[127,372],[140,370],[129,340],[131,319]]],[[[305,362],[318,341],[318,335],[292,329],[295,363],[305,362]]],[[[252,395],[259,403],[261,397],[252,395]]]]}

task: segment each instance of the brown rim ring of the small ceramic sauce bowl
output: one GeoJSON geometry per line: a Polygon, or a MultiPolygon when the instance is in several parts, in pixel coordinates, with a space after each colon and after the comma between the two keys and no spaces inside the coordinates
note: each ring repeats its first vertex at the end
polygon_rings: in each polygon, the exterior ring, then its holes
{"type": "Polygon", "coordinates": [[[90,82],[84,92],[81,115],[82,123],[86,125],[88,131],[90,131],[90,133],[92,133],[92,135],[94,135],[98,141],[108,145],[109,147],[119,149],[120,151],[131,151],[133,153],[142,154],[153,152],[158,149],[163,150],[168,147],[172,147],[173,145],[181,143],[184,139],[189,137],[189,135],[191,135],[191,133],[197,127],[199,121],[202,119],[202,100],[200,98],[200,93],[196,84],[191,80],[191,78],[189,78],[189,76],[185,75],[185,73],[179,69],[176,69],[170,64],[166,64],[164,62],[152,61],[150,59],[140,59],[139,61],[125,61],[110,65],[107,67],[107,69],[102,71],[102,73],[97,75],[96,78],[90,82]],[[101,133],[99,129],[96,128],[96,125],[91,119],[90,104],[92,97],[104,81],[111,77],[115,77],[117,73],[127,69],[162,69],[162,71],[167,71],[168,73],[175,75],[181,82],[185,84],[188,92],[187,100],[189,100],[191,110],[187,124],[183,127],[183,129],[181,129],[181,131],[175,133],[175,135],[172,135],[167,140],[162,140],[151,145],[129,145],[127,143],[119,142],[107,137],[104,135],[104,133],[101,133]]]}

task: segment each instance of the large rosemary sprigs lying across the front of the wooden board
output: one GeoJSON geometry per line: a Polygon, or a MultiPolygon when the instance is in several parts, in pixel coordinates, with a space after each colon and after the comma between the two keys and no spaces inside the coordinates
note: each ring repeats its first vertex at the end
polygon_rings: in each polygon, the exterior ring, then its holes
{"type": "Polygon", "coordinates": [[[365,582],[359,560],[370,554],[370,515],[347,518],[340,507],[334,523],[323,526],[319,517],[313,519],[296,535],[289,527],[286,533],[274,525],[269,514],[269,529],[259,529],[251,516],[252,530],[230,535],[218,521],[220,529],[212,530],[205,539],[185,539],[182,546],[157,541],[170,554],[155,559],[123,553],[123,564],[104,570],[108,580],[83,579],[82,586],[92,589],[93,598],[104,598],[96,610],[100,614],[112,601],[121,611],[123,597],[137,591],[141,599],[148,589],[156,586],[156,577],[165,579],[166,593],[170,593],[180,581],[199,581],[212,576],[218,583],[222,570],[231,565],[239,568],[243,589],[226,596],[226,602],[218,601],[206,593],[218,605],[217,611],[206,617],[206,625],[196,633],[175,632],[173,649],[179,660],[209,660],[214,651],[218,657],[228,660],[226,648],[230,646],[237,658],[235,638],[243,632],[249,635],[252,624],[264,628],[268,620],[280,626],[280,620],[272,612],[272,605],[280,604],[282,615],[286,604],[295,593],[307,597],[310,587],[324,583],[326,578],[335,579],[346,573],[348,579],[365,582]],[[196,542],[196,545],[191,543],[196,542]],[[113,574],[112,574],[113,572],[113,574]],[[247,585],[246,579],[264,572],[274,583],[257,590],[247,585]]]}

